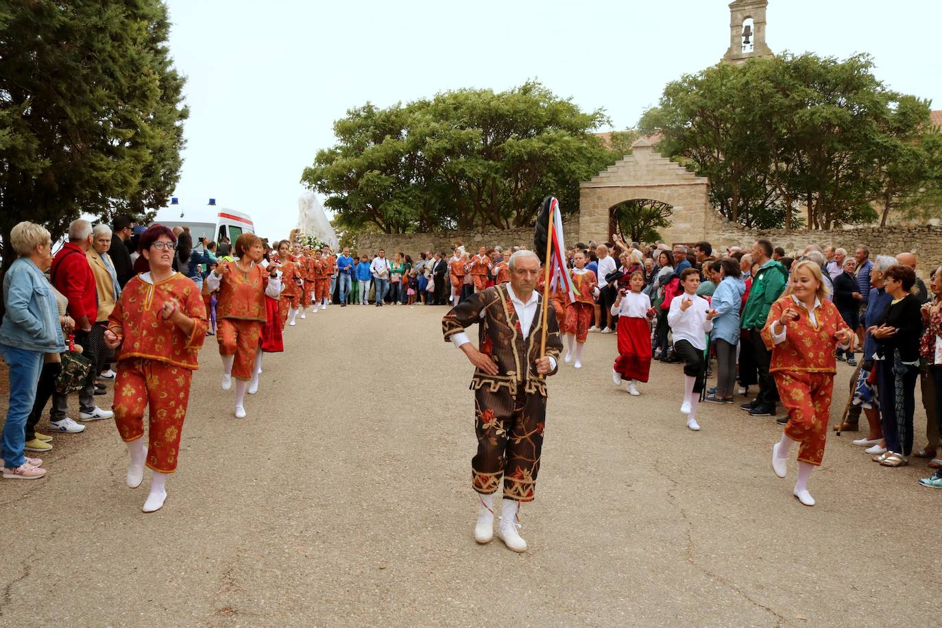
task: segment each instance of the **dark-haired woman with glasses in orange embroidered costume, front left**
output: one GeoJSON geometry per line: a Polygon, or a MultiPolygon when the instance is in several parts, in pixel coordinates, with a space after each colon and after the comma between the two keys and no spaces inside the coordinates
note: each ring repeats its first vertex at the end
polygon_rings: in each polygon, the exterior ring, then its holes
{"type": "Polygon", "coordinates": [[[173,232],[153,225],[141,234],[139,246],[151,269],[124,286],[108,316],[105,343],[111,349],[121,347],[114,411],[118,433],[131,455],[126,482],[136,489],[143,481],[144,465],[154,471],[143,507],[144,512],[154,512],[167,498],[167,475],[176,471],[190,379],[208,326],[200,289],[173,270],[173,232]]]}

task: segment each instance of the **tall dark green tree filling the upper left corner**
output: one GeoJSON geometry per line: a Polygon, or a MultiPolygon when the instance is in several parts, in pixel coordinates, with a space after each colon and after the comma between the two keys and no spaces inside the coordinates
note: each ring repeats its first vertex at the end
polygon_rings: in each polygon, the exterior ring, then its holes
{"type": "Polygon", "coordinates": [[[0,234],[29,219],[54,237],[82,212],[138,217],[180,169],[184,79],[158,0],[0,5],[0,234]]]}

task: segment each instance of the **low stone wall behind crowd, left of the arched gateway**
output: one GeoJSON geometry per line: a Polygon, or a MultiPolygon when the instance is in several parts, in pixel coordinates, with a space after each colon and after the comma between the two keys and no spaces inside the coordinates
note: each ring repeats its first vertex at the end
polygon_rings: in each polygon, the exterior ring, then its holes
{"type": "MultiPolygon", "coordinates": [[[[573,246],[579,238],[579,219],[572,217],[562,224],[566,246],[573,246]]],[[[533,228],[508,229],[503,231],[453,231],[441,233],[364,233],[357,237],[357,252],[375,253],[385,250],[386,256],[392,258],[398,252],[411,255],[418,259],[419,251],[451,252],[456,241],[461,241],[464,249],[469,252],[478,252],[479,247],[491,249],[496,245],[503,247],[526,246],[533,247],[533,228]]]]}

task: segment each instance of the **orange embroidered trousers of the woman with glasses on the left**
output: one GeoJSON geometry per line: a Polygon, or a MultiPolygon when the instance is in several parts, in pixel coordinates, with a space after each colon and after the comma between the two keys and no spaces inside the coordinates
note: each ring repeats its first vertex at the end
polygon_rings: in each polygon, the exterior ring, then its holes
{"type": "Polygon", "coordinates": [[[122,441],[137,441],[144,435],[144,411],[150,408],[146,464],[156,472],[176,471],[192,377],[193,371],[167,362],[144,358],[118,362],[115,425],[122,441]]]}

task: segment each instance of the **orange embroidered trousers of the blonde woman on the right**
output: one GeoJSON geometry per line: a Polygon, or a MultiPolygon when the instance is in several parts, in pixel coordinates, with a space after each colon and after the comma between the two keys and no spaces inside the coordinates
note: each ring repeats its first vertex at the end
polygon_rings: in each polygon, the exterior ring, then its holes
{"type": "Polygon", "coordinates": [[[820,465],[834,392],[833,373],[775,371],[772,373],[782,405],[788,411],[785,435],[801,443],[798,459],[820,465]]]}

